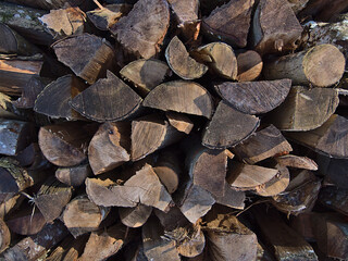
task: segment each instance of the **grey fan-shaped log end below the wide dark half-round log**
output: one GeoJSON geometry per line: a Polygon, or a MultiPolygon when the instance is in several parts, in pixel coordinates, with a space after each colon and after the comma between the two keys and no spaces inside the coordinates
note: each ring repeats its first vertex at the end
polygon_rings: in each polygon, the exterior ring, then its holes
{"type": "Polygon", "coordinates": [[[233,147],[248,138],[259,126],[256,116],[239,112],[220,101],[202,136],[202,145],[211,149],[233,147]]]}

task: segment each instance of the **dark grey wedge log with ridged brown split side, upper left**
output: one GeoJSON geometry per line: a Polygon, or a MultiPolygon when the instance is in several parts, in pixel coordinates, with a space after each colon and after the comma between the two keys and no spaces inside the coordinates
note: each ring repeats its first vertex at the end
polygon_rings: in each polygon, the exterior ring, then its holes
{"type": "Polygon", "coordinates": [[[58,60],[88,84],[105,76],[107,70],[113,67],[114,50],[98,36],[71,36],[54,42],[52,47],[58,60]]]}

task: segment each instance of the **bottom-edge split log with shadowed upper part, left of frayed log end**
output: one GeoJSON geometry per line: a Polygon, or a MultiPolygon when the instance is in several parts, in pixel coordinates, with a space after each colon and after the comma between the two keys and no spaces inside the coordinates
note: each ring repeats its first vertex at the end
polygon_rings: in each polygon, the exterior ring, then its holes
{"type": "Polygon", "coordinates": [[[163,228],[156,217],[151,217],[142,226],[144,253],[148,260],[179,261],[174,240],[163,239],[163,228]]]}

